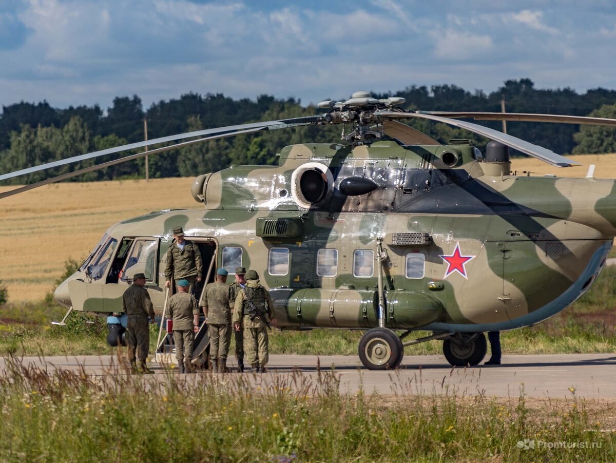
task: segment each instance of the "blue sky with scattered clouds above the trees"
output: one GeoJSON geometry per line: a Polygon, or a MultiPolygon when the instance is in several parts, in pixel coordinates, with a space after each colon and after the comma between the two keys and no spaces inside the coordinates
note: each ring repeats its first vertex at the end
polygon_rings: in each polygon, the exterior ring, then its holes
{"type": "Polygon", "coordinates": [[[0,0],[0,105],[616,88],[616,2],[0,0]]]}

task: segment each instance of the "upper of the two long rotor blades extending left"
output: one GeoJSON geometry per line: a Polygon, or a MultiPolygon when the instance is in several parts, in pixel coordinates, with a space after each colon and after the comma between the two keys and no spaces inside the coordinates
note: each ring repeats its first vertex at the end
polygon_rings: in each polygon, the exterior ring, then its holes
{"type": "Polygon", "coordinates": [[[150,145],[158,145],[158,143],[172,142],[174,140],[188,139],[192,137],[202,137],[203,135],[224,135],[228,133],[235,134],[237,131],[243,131],[245,129],[260,129],[262,131],[286,129],[288,127],[307,126],[316,124],[323,120],[322,115],[307,116],[305,118],[293,118],[293,119],[281,119],[280,121],[265,121],[251,124],[240,124],[238,126],[217,127],[216,129],[205,129],[202,131],[186,132],[184,134],[169,135],[169,137],[161,137],[158,139],[147,140],[147,142],[129,143],[128,145],[122,145],[121,147],[108,148],[107,150],[94,151],[93,153],[87,153],[85,155],[73,156],[67,159],[60,159],[59,161],[53,161],[51,163],[40,164],[39,166],[27,167],[15,172],[9,172],[7,174],[0,175],[0,180],[12,179],[19,175],[32,174],[33,172],[44,171],[51,169],[52,167],[64,166],[65,164],[76,163],[78,161],[85,161],[86,159],[97,158],[99,156],[111,155],[118,153],[119,151],[134,150],[135,148],[142,148],[150,145]]]}

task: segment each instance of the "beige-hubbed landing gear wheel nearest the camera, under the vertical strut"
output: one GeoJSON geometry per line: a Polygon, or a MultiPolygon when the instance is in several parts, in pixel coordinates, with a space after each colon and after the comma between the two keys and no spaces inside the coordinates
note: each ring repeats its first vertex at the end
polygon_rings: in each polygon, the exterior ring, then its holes
{"type": "Polygon", "coordinates": [[[389,370],[402,361],[402,341],[387,328],[373,328],[359,342],[359,360],[369,370],[389,370]]]}

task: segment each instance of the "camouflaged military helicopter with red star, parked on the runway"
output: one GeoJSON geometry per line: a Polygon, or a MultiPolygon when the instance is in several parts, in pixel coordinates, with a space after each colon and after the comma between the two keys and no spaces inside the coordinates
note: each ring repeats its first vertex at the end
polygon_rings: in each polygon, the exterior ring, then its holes
{"type": "MultiPolygon", "coordinates": [[[[325,113],[171,135],[0,174],[0,180],[124,150],[142,153],[84,172],[193,143],[293,127],[338,124],[339,142],[283,148],[277,166],[231,166],[198,175],[202,209],[156,211],[111,225],[83,265],[55,290],[72,310],[108,316],[115,339],[123,292],[145,273],[164,312],[172,229],[183,227],[216,268],[257,270],[282,329],[359,329],[368,369],[400,366],[404,348],[442,340],[453,366],[477,365],[485,332],[539,323],[588,291],[616,236],[616,181],[511,172],[509,148],[555,167],[576,163],[546,148],[460,119],[599,124],[616,119],[523,113],[408,111],[400,97],[318,103],[325,113]],[[482,135],[442,145],[399,119],[428,119],[482,135]],[[189,139],[189,140],[186,140],[189,139]],[[168,145],[170,142],[175,142],[168,145]],[[405,339],[416,331],[428,336],[405,339]]],[[[195,294],[198,296],[198,294],[195,294]]],[[[66,319],[66,316],[65,316],[66,319]]],[[[110,341],[111,343],[111,341],[110,341]]]]}

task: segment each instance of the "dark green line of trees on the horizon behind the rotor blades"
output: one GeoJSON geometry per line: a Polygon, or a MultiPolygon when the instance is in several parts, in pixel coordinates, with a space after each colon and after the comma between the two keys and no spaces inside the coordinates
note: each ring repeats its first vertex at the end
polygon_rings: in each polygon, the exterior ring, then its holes
{"type": "MultiPolygon", "coordinates": [[[[405,97],[405,108],[442,111],[500,112],[505,100],[507,112],[547,113],[616,118],[616,91],[591,89],[578,94],[573,89],[535,89],[530,79],[512,79],[490,94],[469,92],[454,85],[409,86],[402,91],[373,94],[405,97]]],[[[179,99],[161,100],[144,110],[142,100],[116,97],[103,111],[99,105],[64,109],[47,102],[3,106],[0,115],[0,172],[11,172],[37,164],[144,140],[144,119],[150,139],[180,132],[231,126],[255,121],[294,118],[319,113],[300,100],[261,95],[256,100],[234,100],[222,94],[188,93],[179,99]]],[[[500,130],[499,121],[476,121],[500,130]]],[[[471,139],[483,148],[487,140],[461,129],[428,121],[411,121],[411,126],[440,142],[471,139]]],[[[557,153],[610,153],[616,151],[614,129],[548,123],[508,123],[508,133],[557,153]]],[[[294,143],[332,143],[340,138],[336,126],[310,126],[240,135],[230,139],[192,145],[150,156],[151,177],[195,176],[217,171],[230,164],[274,164],[275,155],[294,143]]],[[[127,155],[129,153],[122,153],[127,155]]],[[[10,183],[31,183],[50,175],[81,169],[106,159],[83,161],[50,172],[37,172],[10,183]]],[[[92,181],[136,178],[144,175],[144,159],[89,172],[73,180],[92,181]]]]}

